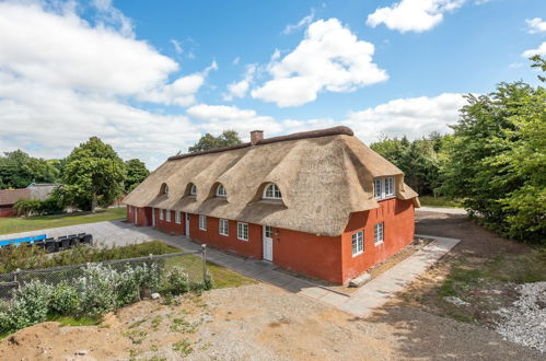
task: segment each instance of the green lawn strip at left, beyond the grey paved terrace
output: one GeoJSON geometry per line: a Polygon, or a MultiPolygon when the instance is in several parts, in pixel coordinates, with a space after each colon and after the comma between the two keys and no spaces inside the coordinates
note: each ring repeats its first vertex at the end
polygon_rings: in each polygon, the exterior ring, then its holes
{"type": "Polygon", "coordinates": [[[108,208],[95,213],[74,212],[28,218],[0,218],[0,234],[53,229],[57,226],[118,220],[126,217],[126,208],[108,208]]]}

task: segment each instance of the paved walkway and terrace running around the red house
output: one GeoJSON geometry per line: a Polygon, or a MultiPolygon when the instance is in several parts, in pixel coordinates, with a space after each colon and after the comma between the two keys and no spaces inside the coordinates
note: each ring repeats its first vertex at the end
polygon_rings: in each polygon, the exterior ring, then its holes
{"type": "MultiPolygon", "coordinates": [[[[187,237],[169,235],[152,228],[135,226],[131,223],[121,221],[88,223],[50,230],[7,234],[0,236],[0,238],[14,238],[44,233],[46,233],[47,236],[58,236],[83,232],[93,234],[95,241],[98,241],[98,243],[106,246],[161,240],[184,251],[199,251],[201,248],[200,244],[191,242],[187,237]]],[[[276,270],[278,269],[278,266],[270,263],[226,254],[214,248],[208,248],[207,259],[258,281],[270,283],[287,291],[325,302],[356,316],[367,316],[373,310],[382,306],[393,298],[396,292],[402,291],[460,242],[454,238],[428,235],[416,236],[433,238],[433,242],[372,279],[351,294],[345,294],[280,272],[276,270]]]]}

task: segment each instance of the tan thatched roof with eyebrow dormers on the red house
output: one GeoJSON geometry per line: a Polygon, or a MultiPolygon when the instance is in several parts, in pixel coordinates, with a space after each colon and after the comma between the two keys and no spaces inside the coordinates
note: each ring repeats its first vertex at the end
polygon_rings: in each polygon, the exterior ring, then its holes
{"type": "Polygon", "coordinates": [[[336,236],[351,212],[379,207],[372,180],[380,176],[395,176],[396,197],[418,206],[400,170],[337,127],[172,156],[124,202],[336,236]],[[220,183],[226,198],[214,197],[220,183]],[[262,199],[268,183],[280,188],[281,202],[262,199]],[[169,194],[160,194],[163,184],[169,194]]]}

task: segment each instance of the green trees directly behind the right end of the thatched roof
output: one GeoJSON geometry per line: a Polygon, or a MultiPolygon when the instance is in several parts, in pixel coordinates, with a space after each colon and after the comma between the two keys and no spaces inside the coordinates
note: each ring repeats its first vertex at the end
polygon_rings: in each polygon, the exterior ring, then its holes
{"type": "Polygon", "coordinates": [[[370,148],[404,172],[404,180],[419,195],[432,195],[439,186],[438,151],[442,137],[433,132],[428,138],[384,138],[370,148]]]}

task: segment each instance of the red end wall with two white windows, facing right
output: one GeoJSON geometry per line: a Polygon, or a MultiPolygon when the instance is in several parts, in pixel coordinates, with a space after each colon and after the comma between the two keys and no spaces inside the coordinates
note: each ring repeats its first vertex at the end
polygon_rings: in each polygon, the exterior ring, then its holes
{"type": "Polygon", "coordinates": [[[399,252],[414,240],[414,201],[387,199],[380,201],[380,208],[352,213],[341,235],[342,280],[367,271],[370,267],[382,263],[399,252]],[[374,244],[374,225],[384,222],[384,241],[374,244]],[[352,256],[352,234],[364,231],[364,252],[352,256]]]}

